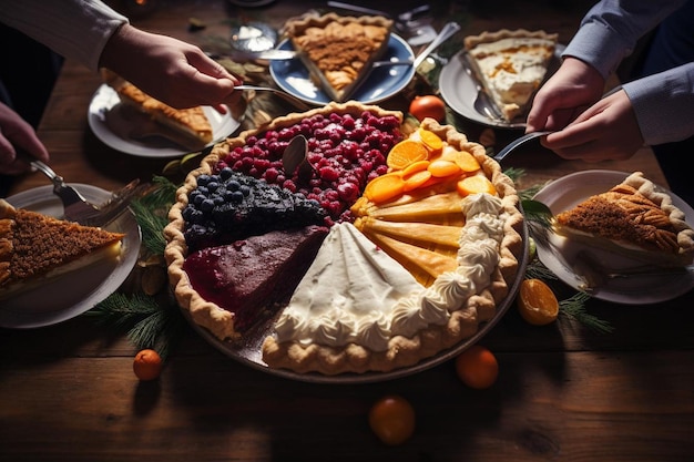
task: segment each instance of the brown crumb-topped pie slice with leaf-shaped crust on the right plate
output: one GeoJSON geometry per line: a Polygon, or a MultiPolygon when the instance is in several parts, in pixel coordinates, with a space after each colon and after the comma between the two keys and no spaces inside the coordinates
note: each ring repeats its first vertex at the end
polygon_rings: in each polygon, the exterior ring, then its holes
{"type": "Polygon", "coordinates": [[[694,260],[694,230],[684,212],[641,172],[557,214],[554,229],[653,265],[685,266],[694,260]]]}

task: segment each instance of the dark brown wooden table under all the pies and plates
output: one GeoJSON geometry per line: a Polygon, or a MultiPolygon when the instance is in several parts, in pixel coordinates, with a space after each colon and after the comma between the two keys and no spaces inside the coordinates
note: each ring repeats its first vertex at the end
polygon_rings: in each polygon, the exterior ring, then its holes
{"type": "MultiPolygon", "coordinates": [[[[470,7],[463,33],[545,28],[565,42],[590,4],[519,1],[506,10],[506,3],[470,7]]],[[[280,24],[307,6],[323,3],[278,1],[239,12],[224,1],[160,1],[133,22],[195,42],[201,34],[187,31],[191,17],[206,32],[225,33],[226,18],[280,24]]],[[[65,63],[39,129],[53,167],[103,188],[134,176],[149,181],[163,161],[113,151],[89,130],[86,107],[99,84],[98,75],[65,63]]],[[[497,133],[500,144],[514,135],[497,133]]],[[[665,184],[650,150],[595,166],[535,145],[512,161],[527,171],[520,188],[595,167],[642,170],[665,184]]],[[[12,194],[45,184],[31,174],[12,194]]],[[[533,327],[510,309],[481,341],[500,363],[498,382],[483,391],[466,388],[451,362],[370,384],[287,380],[229,359],[190,328],[161,379],[141,383],[133,346],[92,319],[2,329],[0,460],[692,460],[693,301],[692,292],[657,305],[591,300],[589,311],[614,328],[608,335],[569,321],[533,327]],[[400,446],[384,445],[368,428],[369,407],[386,393],[407,398],[417,412],[416,433],[400,446]]]]}

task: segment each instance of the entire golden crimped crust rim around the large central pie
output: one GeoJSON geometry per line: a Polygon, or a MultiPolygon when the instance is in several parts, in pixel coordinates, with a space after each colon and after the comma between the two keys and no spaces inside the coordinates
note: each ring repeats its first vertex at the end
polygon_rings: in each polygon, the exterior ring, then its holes
{"type": "MultiPolygon", "coordinates": [[[[169,264],[170,283],[174,288],[178,305],[186,311],[192,321],[207,329],[221,341],[234,341],[241,333],[234,329],[234,314],[214,302],[205,300],[190,284],[183,269],[187,255],[187,246],[183,234],[184,218],[182,211],[187,204],[187,196],[196,187],[196,178],[201,174],[210,174],[220,158],[226,156],[237,146],[243,146],[246,138],[268,130],[280,130],[299,123],[313,114],[330,114],[333,112],[361,114],[364,111],[375,112],[378,116],[401,113],[386,111],[378,106],[368,106],[356,102],[330,103],[325,107],[307,113],[289,114],[274,120],[267,126],[243,132],[239,136],[216,144],[212,152],[202,161],[201,166],[193,171],[176,193],[176,204],[171,208],[170,224],[164,229],[167,239],[165,258],[169,264]]],[[[423,358],[431,357],[441,350],[472,337],[480,326],[493,319],[498,306],[509,296],[509,288],[518,277],[519,261],[522,260],[523,217],[519,211],[519,196],[512,181],[502,173],[500,165],[487,156],[486,150],[478,143],[470,142],[451,125],[439,125],[433,120],[425,120],[422,126],[435,132],[452,146],[473,154],[479,161],[484,175],[492,181],[501,198],[503,214],[503,237],[499,249],[499,263],[491,274],[487,287],[469,297],[463,306],[456,309],[445,326],[431,326],[411,338],[402,336],[389,340],[388,350],[374,352],[359,345],[350,343],[344,348],[320,345],[304,346],[298,342],[277,342],[271,335],[265,338],[262,347],[264,361],[271,368],[286,368],[298,373],[319,372],[338,374],[345,372],[363,373],[366,371],[391,371],[401,367],[416,365],[423,358]]],[[[279,308],[282,309],[282,308],[279,308]]]]}

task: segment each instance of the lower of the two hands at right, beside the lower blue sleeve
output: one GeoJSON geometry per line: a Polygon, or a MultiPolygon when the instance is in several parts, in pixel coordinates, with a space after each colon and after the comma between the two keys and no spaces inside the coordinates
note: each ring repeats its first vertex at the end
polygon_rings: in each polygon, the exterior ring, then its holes
{"type": "Polygon", "coordinates": [[[565,129],[547,135],[542,145],[568,160],[623,161],[641,146],[643,136],[624,90],[585,110],[565,129]]]}

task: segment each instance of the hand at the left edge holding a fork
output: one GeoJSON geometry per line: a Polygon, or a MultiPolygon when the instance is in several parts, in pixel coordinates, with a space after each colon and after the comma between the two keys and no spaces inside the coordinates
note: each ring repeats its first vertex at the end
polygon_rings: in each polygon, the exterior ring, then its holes
{"type": "Polygon", "coordinates": [[[27,162],[17,158],[25,151],[40,161],[48,162],[48,150],[33,127],[17,112],[0,103],[0,173],[18,175],[30,170],[27,162]]]}

